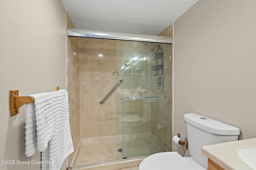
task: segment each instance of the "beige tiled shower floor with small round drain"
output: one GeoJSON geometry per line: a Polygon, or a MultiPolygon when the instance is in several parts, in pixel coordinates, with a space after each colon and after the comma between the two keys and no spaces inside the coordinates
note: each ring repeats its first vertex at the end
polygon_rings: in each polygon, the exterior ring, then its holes
{"type": "Polygon", "coordinates": [[[137,133],[81,139],[71,166],[122,160],[168,151],[152,133],[137,133]],[[118,149],[123,152],[118,152],[118,149]]]}

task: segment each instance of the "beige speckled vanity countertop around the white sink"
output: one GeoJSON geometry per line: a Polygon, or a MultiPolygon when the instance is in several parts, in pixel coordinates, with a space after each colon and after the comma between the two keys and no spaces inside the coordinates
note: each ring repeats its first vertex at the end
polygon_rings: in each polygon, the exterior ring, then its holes
{"type": "Polygon", "coordinates": [[[239,158],[240,149],[256,149],[256,138],[207,145],[201,151],[225,170],[252,170],[239,158]]]}

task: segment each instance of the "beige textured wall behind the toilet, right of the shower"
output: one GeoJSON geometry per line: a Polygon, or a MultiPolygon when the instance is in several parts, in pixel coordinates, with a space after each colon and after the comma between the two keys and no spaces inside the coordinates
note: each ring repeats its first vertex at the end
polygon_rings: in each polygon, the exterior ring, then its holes
{"type": "Polygon", "coordinates": [[[174,134],[195,112],[256,137],[255,30],[255,0],[200,0],[174,22],[174,134]]]}

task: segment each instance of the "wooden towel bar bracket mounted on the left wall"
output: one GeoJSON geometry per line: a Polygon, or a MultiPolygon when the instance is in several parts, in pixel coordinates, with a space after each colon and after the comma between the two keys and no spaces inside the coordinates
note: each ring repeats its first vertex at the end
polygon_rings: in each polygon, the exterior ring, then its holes
{"type": "MultiPolygon", "coordinates": [[[[56,86],[56,91],[60,88],[56,86]]],[[[19,96],[19,90],[10,90],[10,116],[18,114],[19,108],[24,104],[32,103],[35,101],[33,96],[19,96]]]]}

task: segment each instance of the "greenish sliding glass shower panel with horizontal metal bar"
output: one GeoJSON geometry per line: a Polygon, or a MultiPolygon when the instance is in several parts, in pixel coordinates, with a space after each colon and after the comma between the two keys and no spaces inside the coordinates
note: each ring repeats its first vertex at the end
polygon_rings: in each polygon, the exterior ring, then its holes
{"type": "MultiPolygon", "coordinates": [[[[167,151],[151,133],[151,105],[152,101],[158,102],[158,100],[130,100],[131,98],[166,96],[163,90],[165,59],[161,45],[122,41],[121,54],[122,99],[125,99],[122,100],[122,116],[120,117],[122,120],[122,158],[167,151]],[[155,47],[151,47],[153,45],[155,47]]],[[[164,99],[160,100],[164,102],[164,99]]]]}

